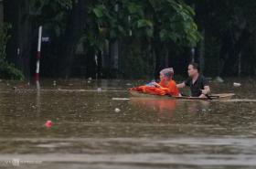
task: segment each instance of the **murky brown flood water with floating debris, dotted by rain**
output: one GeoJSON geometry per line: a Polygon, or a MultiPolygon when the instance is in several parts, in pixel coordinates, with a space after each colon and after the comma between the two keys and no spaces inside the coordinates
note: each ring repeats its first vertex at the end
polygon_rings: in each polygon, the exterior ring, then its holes
{"type": "Polygon", "coordinates": [[[256,80],[211,83],[229,101],[131,97],[143,83],[0,82],[0,167],[256,168],[256,80]]]}

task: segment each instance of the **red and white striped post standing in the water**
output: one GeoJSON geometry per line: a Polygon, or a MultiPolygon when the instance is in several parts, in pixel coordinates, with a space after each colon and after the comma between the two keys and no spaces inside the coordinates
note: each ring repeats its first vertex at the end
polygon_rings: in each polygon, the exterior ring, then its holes
{"type": "Polygon", "coordinates": [[[39,26],[39,29],[38,29],[38,44],[37,44],[37,68],[36,68],[36,74],[35,74],[36,81],[39,81],[41,44],[42,44],[42,30],[43,30],[43,26],[39,26]]]}

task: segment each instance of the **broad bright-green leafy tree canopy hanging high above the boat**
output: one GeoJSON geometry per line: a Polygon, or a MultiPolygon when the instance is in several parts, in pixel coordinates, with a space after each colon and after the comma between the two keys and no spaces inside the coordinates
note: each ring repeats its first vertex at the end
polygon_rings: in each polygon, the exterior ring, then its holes
{"type": "Polygon", "coordinates": [[[201,37],[194,15],[190,6],[178,0],[121,0],[118,8],[114,1],[93,1],[88,6],[83,39],[95,48],[102,48],[106,39],[127,37],[195,47],[201,37]]]}

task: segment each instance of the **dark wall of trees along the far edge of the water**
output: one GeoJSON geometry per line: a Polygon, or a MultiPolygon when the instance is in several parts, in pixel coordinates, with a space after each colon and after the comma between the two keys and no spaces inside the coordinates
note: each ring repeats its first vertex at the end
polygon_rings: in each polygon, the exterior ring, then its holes
{"type": "Polygon", "coordinates": [[[255,75],[255,6],[253,0],[4,0],[11,26],[6,59],[31,77],[42,25],[49,37],[42,46],[45,77],[154,78],[165,67],[185,74],[192,59],[208,76],[255,75]]]}

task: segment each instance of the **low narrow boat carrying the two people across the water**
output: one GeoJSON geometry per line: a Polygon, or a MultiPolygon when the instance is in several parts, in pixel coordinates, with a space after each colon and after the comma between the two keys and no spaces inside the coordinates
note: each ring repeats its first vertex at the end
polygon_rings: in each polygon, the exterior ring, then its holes
{"type": "Polygon", "coordinates": [[[173,100],[230,100],[233,96],[235,96],[234,93],[221,93],[221,94],[211,94],[209,95],[209,98],[198,98],[198,97],[187,97],[187,96],[158,96],[158,95],[151,95],[151,94],[145,94],[138,91],[130,91],[131,95],[133,97],[142,97],[142,98],[158,98],[158,99],[173,99],[173,100]]]}

